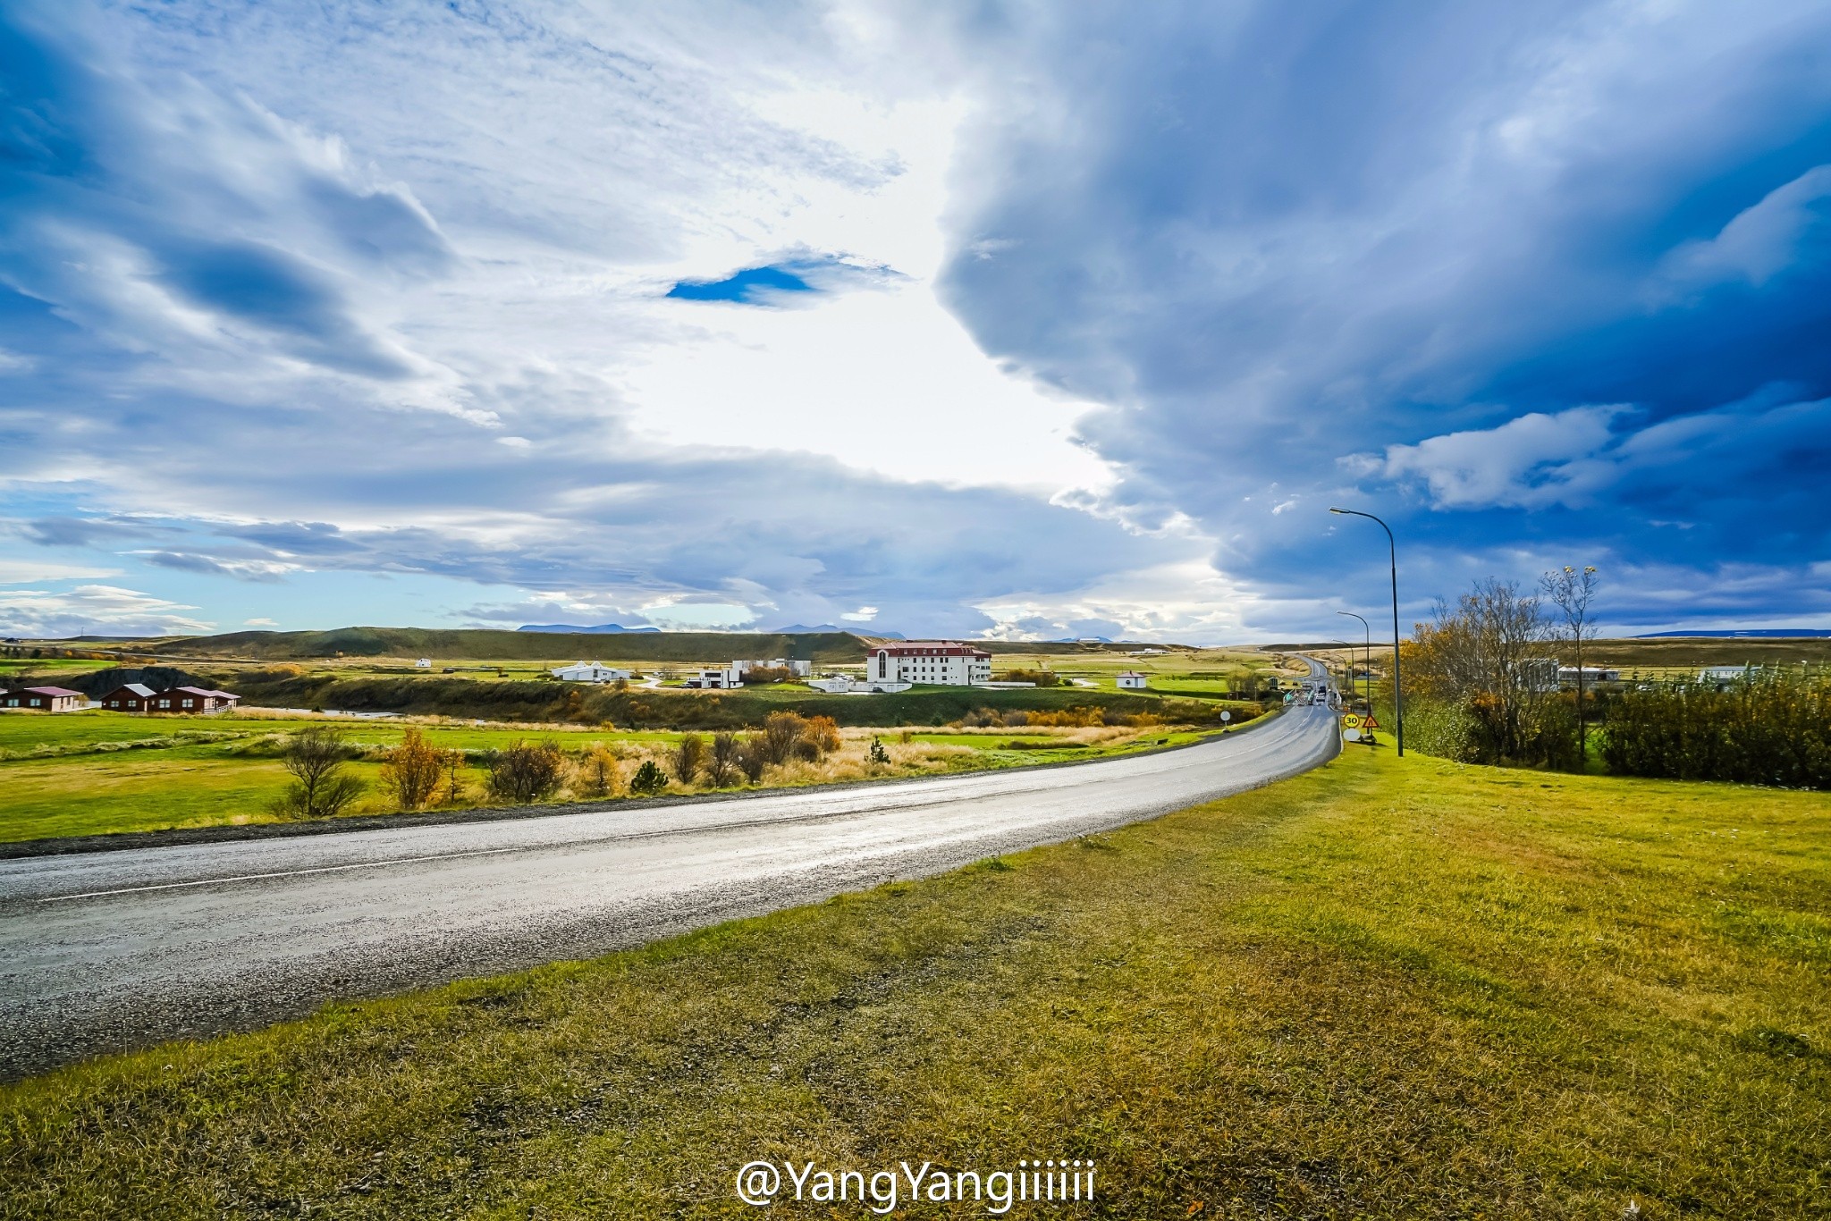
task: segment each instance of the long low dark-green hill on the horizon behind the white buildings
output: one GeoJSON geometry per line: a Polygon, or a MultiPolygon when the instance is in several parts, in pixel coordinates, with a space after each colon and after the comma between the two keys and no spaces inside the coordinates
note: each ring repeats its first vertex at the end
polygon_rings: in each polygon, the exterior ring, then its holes
{"type": "Polygon", "coordinates": [[[566,632],[434,628],[335,628],[331,632],[229,632],[223,635],[141,641],[159,657],[218,661],[313,661],[324,657],[436,657],[439,661],[544,661],[606,657],[619,661],[709,661],[731,657],[806,657],[835,665],[864,659],[850,633],[780,635],[738,632],[632,632],[613,637],[566,632]]]}

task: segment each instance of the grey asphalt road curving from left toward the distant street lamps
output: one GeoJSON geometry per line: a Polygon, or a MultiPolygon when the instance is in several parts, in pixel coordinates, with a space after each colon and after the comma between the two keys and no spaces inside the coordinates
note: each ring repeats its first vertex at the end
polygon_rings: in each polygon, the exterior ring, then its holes
{"type": "Polygon", "coordinates": [[[590,957],[1240,793],[1335,712],[1071,767],[0,862],[0,1076],[590,957]]]}

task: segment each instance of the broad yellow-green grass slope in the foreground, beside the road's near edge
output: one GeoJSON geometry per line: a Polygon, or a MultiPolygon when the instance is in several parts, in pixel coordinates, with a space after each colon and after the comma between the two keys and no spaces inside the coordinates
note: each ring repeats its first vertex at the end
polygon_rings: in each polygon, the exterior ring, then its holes
{"type": "Polygon", "coordinates": [[[1051,1155],[1099,1164],[1089,1217],[1822,1216],[1827,833],[1824,794],[1349,752],[928,882],[68,1069],[0,1097],[0,1173],[33,1217],[756,1216],[751,1159],[1051,1155]]]}

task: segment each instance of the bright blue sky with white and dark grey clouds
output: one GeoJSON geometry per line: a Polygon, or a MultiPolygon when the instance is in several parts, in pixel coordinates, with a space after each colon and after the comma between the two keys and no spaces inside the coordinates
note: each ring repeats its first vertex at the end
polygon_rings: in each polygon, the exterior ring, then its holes
{"type": "Polygon", "coordinates": [[[0,626],[1831,626],[1831,9],[9,0],[0,626]]]}

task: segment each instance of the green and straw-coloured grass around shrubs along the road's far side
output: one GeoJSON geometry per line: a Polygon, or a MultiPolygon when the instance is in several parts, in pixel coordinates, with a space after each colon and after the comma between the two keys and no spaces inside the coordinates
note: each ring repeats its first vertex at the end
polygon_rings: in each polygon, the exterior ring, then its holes
{"type": "MultiPolygon", "coordinates": [[[[110,835],[117,831],[154,831],[163,827],[207,827],[225,824],[275,822],[275,800],[289,778],[280,763],[280,736],[306,719],[265,718],[258,712],[209,718],[143,718],[114,712],[73,712],[59,716],[0,716],[0,842],[64,835],[110,835]]],[[[368,794],[348,813],[392,811],[381,785],[381,752],[399,745],[401,723],[337,721],[348,741],[363,751],[350,771],[364,782],[368,794]]],[[[666,752],[679,732],[604,730],[579,725],[419,725],[427,740],[441,749],[482,752],[520,740],[557,741],[573,758],[595,745],[617,756],[613,793],[626,794],[628,780],[643,760],[654,758],[666,769],[666,752]]],[[[1181,745],[1199,734],[1179,729],[1003,729],[976,732],[919,732],[908,740],[897,730],[884,732],[888,763],[866,758],[872,730],[842,734],[835,756],[818,763],[791,762],[771,767],[760,787],[831,783],[842,780],[923,776],[958,771],[987,771],[1089,760],[1154,745],[1181,745]]],[[[465,785],[461,802],[439,809],[487,805],[487,773],[476,758],[460,769],[465,785]]],[[[736,785],[751,787],[751,785],[736,785]]],[[[707,793],[701,778],[692,785],[677,780],[670,793],[707,793]]],[[[736,789],[732,789],[736,791],[736,789]]],[[[553,804],[599,800],[586,789],[586,776],[573,776],[553,804]]]]}

